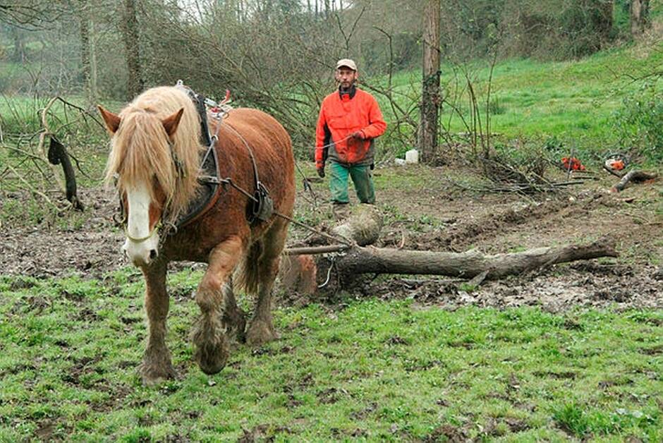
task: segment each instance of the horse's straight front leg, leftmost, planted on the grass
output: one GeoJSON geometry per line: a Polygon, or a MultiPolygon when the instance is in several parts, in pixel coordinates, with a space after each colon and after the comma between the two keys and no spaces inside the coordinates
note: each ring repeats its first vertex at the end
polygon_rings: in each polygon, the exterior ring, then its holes
{"type": "Polygon", "coordinates": [[[147,348],[140,365],[143,384],[157,384],[174,378],[175,370],[171,365],[171,356],[166,346],[166,316],[169,299],[166,292],[165,260],[157,260],[149,267],[142,268],[145,276],[145,310],[150,329],[147,336],[147,348]]]}

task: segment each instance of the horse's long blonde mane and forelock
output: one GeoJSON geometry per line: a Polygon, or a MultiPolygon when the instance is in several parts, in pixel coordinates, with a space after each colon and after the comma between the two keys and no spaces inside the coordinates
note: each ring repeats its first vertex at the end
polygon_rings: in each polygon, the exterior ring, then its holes
{"type": "MultiPolygon", "coordinates": [[[[187,210],[198,189],[200,166],[200,121],[191,99],[177,87],[154,87],[136,97],[119,114],[121,123],[111,139],[106,178],[118,176],[117,188],[125,191],[145,183],[154,192],[154,181],[166,195],[168,222],[187,210]],[[173,135],[172,151],[162,120],[184,108],[173,135]]],[[[152,195],[154,198],[154,195],[152,195]]]]}

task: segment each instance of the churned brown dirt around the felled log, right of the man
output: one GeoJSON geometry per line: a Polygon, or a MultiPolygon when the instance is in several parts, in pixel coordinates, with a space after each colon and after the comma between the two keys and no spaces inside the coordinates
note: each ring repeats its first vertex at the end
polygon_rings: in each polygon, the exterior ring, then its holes
{"type": "MultiPolygon", "coordinates": [[[[661,190],[651,185],[633,186],[624,193],[609,194],[609,183],[612,178],[587,185],[575,195],[543,197],[540,202],[514,195],[454,195],[437,212],[442,226],[438,223],[433,229],[420,228],[421,232],[415,232],[408,229],[413,226],[411,223],[392,222],[383,229],[386,235],[381,236],[381,245],[510,253],[609,237],[620,254],[616,260],[555,265],[499,281],[485,281],[472,291],[463,288],[463,281],[458,279],[426,276],[380,278],[367,282],[360,291],[365,296],[413,298],[423,305],[446,309],[461,305],[539,305],[552,312],[578,306],[663,308],[661,190]]],[[[410,219],[422,216],[418,198],[411,195],[406,203],[410,219]]]]}

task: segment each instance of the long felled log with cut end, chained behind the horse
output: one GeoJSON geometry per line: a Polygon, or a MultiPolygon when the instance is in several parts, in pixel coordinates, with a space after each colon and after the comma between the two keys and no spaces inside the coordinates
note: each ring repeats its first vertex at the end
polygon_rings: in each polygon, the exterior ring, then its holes
{"type": "MultiPolygon", "coordinates": [[[[377,217],[372,214],[371,217],[377,217]]],[[[343,229],[356,228],[359,217],[347,219],[343,229]],[[350,228],[348,228],[350,224],[350,228]]],[[[363,223],[365,223],[365,218],[363,223]]],[[[367,224],[363,226],[368,226],[367,224]]],[[[350,229],[352,236],[367,239],[379,236],[382,222],[372,229],[350,229]],[[377,231],[376,231],[377,230],[377,231]],[[366,233],[370,232],[370,237],[366,233]]],[[[336,230],[335,232],[341,232],[336,230]]],[[[500,279],[521,274],[556,263],[590,260],[598,257],[617,257],[614,241],[603,238],[593,243],[565,245],[551,248],[534,248],[521,253],[485,255],[477,250],[464,253],[448,253],[422,250],[374,248],[358,244],[339,244],[290,248],[289,274],[281,269],[281,281],[290,282],[286,288],[312,294],[321,287],[342,289],[352,286],[362,274],[430,274],[474,279],[480,284],[484,279],[500,279]],[[304,255],[305,254],[305,255],[304,255]],[[316,281],[317,280],[317,281],[316,281]],[[314,284],[313,282],[316,281],[314,284]]]]}

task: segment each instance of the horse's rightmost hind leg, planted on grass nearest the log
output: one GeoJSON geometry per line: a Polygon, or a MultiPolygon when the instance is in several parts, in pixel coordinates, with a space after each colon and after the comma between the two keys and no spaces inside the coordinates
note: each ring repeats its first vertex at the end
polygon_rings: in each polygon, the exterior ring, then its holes
{"type": "Polygon", "coordinates": [[[272,287],[279,272],[281,252],[286,244],[288,224],[283,219],[276,219],[269,231],[262,238],[263,252],[258,259],[258,300],[253,318],[246,332],[246,342],[252,346],[261,346],[267,341],[278,338],[272,321],[272,287]]]}

